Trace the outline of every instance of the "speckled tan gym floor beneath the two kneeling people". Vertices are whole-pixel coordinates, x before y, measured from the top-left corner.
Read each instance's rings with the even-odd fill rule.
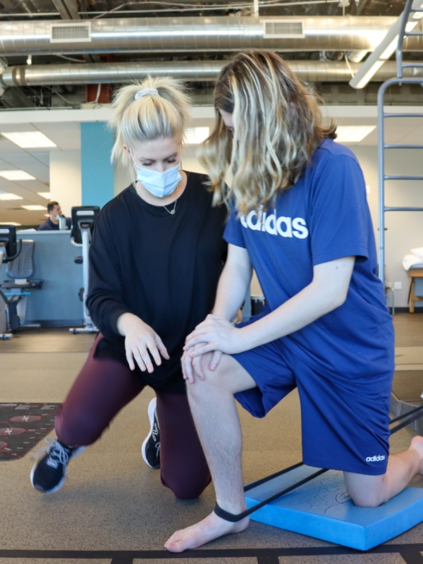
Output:
[[[423,315],[396,314],[401,369],[423,365]],[[0,403],[57,403],[85,361],[93,336],[67,329],[27,330],[0,341]],[[178,501],[149,469],[140,446],[149,431],[143,392],[109,431],[69,466],[66,484],[45,496],[32,489],[33,452],[0,462],[0,564],[414,564],[423,563],[423,524],[369,553],[357,553],[300,534],[252,522],[246,532],[182,555],[164,551],[178,528],[214,507],[213,486],[196,501]],[[291,393],[266,419],[240,410],[245,482],[301,460],[298,395]],[[393,436],[393,453],[405,450],[410,428]],[[423,477],[413,480],[423,487]]]

